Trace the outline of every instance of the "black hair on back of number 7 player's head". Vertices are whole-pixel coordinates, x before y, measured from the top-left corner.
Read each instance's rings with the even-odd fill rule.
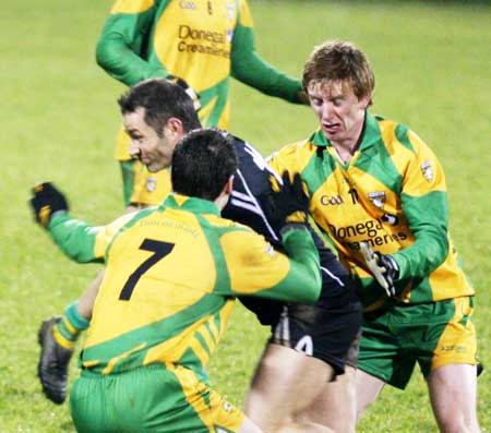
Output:
[[[214,201],[237,170],[233,139],[216,129],[184,135],[172,154],[170,178],[178,194]]]

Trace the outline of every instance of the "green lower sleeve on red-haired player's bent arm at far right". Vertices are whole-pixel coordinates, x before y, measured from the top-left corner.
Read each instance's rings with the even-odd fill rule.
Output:
[[[418,197],[403,193],[400,199],[416,242],[392,256],[399,266],[399,279],[424,278],[448,254],[446,193],[432,191]]]

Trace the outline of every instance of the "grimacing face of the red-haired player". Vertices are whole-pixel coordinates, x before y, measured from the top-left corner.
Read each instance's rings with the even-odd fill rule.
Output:
[[[354,145],[358,142],[370,95],[358,99],[352,86],[344,81],[311,83],[308,95],[322,131],[333,144]]]

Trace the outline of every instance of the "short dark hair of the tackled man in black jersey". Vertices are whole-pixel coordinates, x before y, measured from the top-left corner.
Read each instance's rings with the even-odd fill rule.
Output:
[[[121,113],[145,109],[145,122],[161,137],[163,129],[170,118],[182,122],[184,131],[200,128],[193,101],[188,94],[167,80],[151,79],[131,87],[118,99]]]

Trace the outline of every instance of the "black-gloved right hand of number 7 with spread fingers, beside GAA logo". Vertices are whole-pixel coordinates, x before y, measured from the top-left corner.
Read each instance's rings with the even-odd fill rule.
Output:
[[[272,176],[273,192],[265,206],[266,217],[273,227],[282,229],[289,224],[307,225],[309,214],[309,197],[303,191],[300,175],[296,173],[294,180],[287,171],[283,173],[283,183]]]

